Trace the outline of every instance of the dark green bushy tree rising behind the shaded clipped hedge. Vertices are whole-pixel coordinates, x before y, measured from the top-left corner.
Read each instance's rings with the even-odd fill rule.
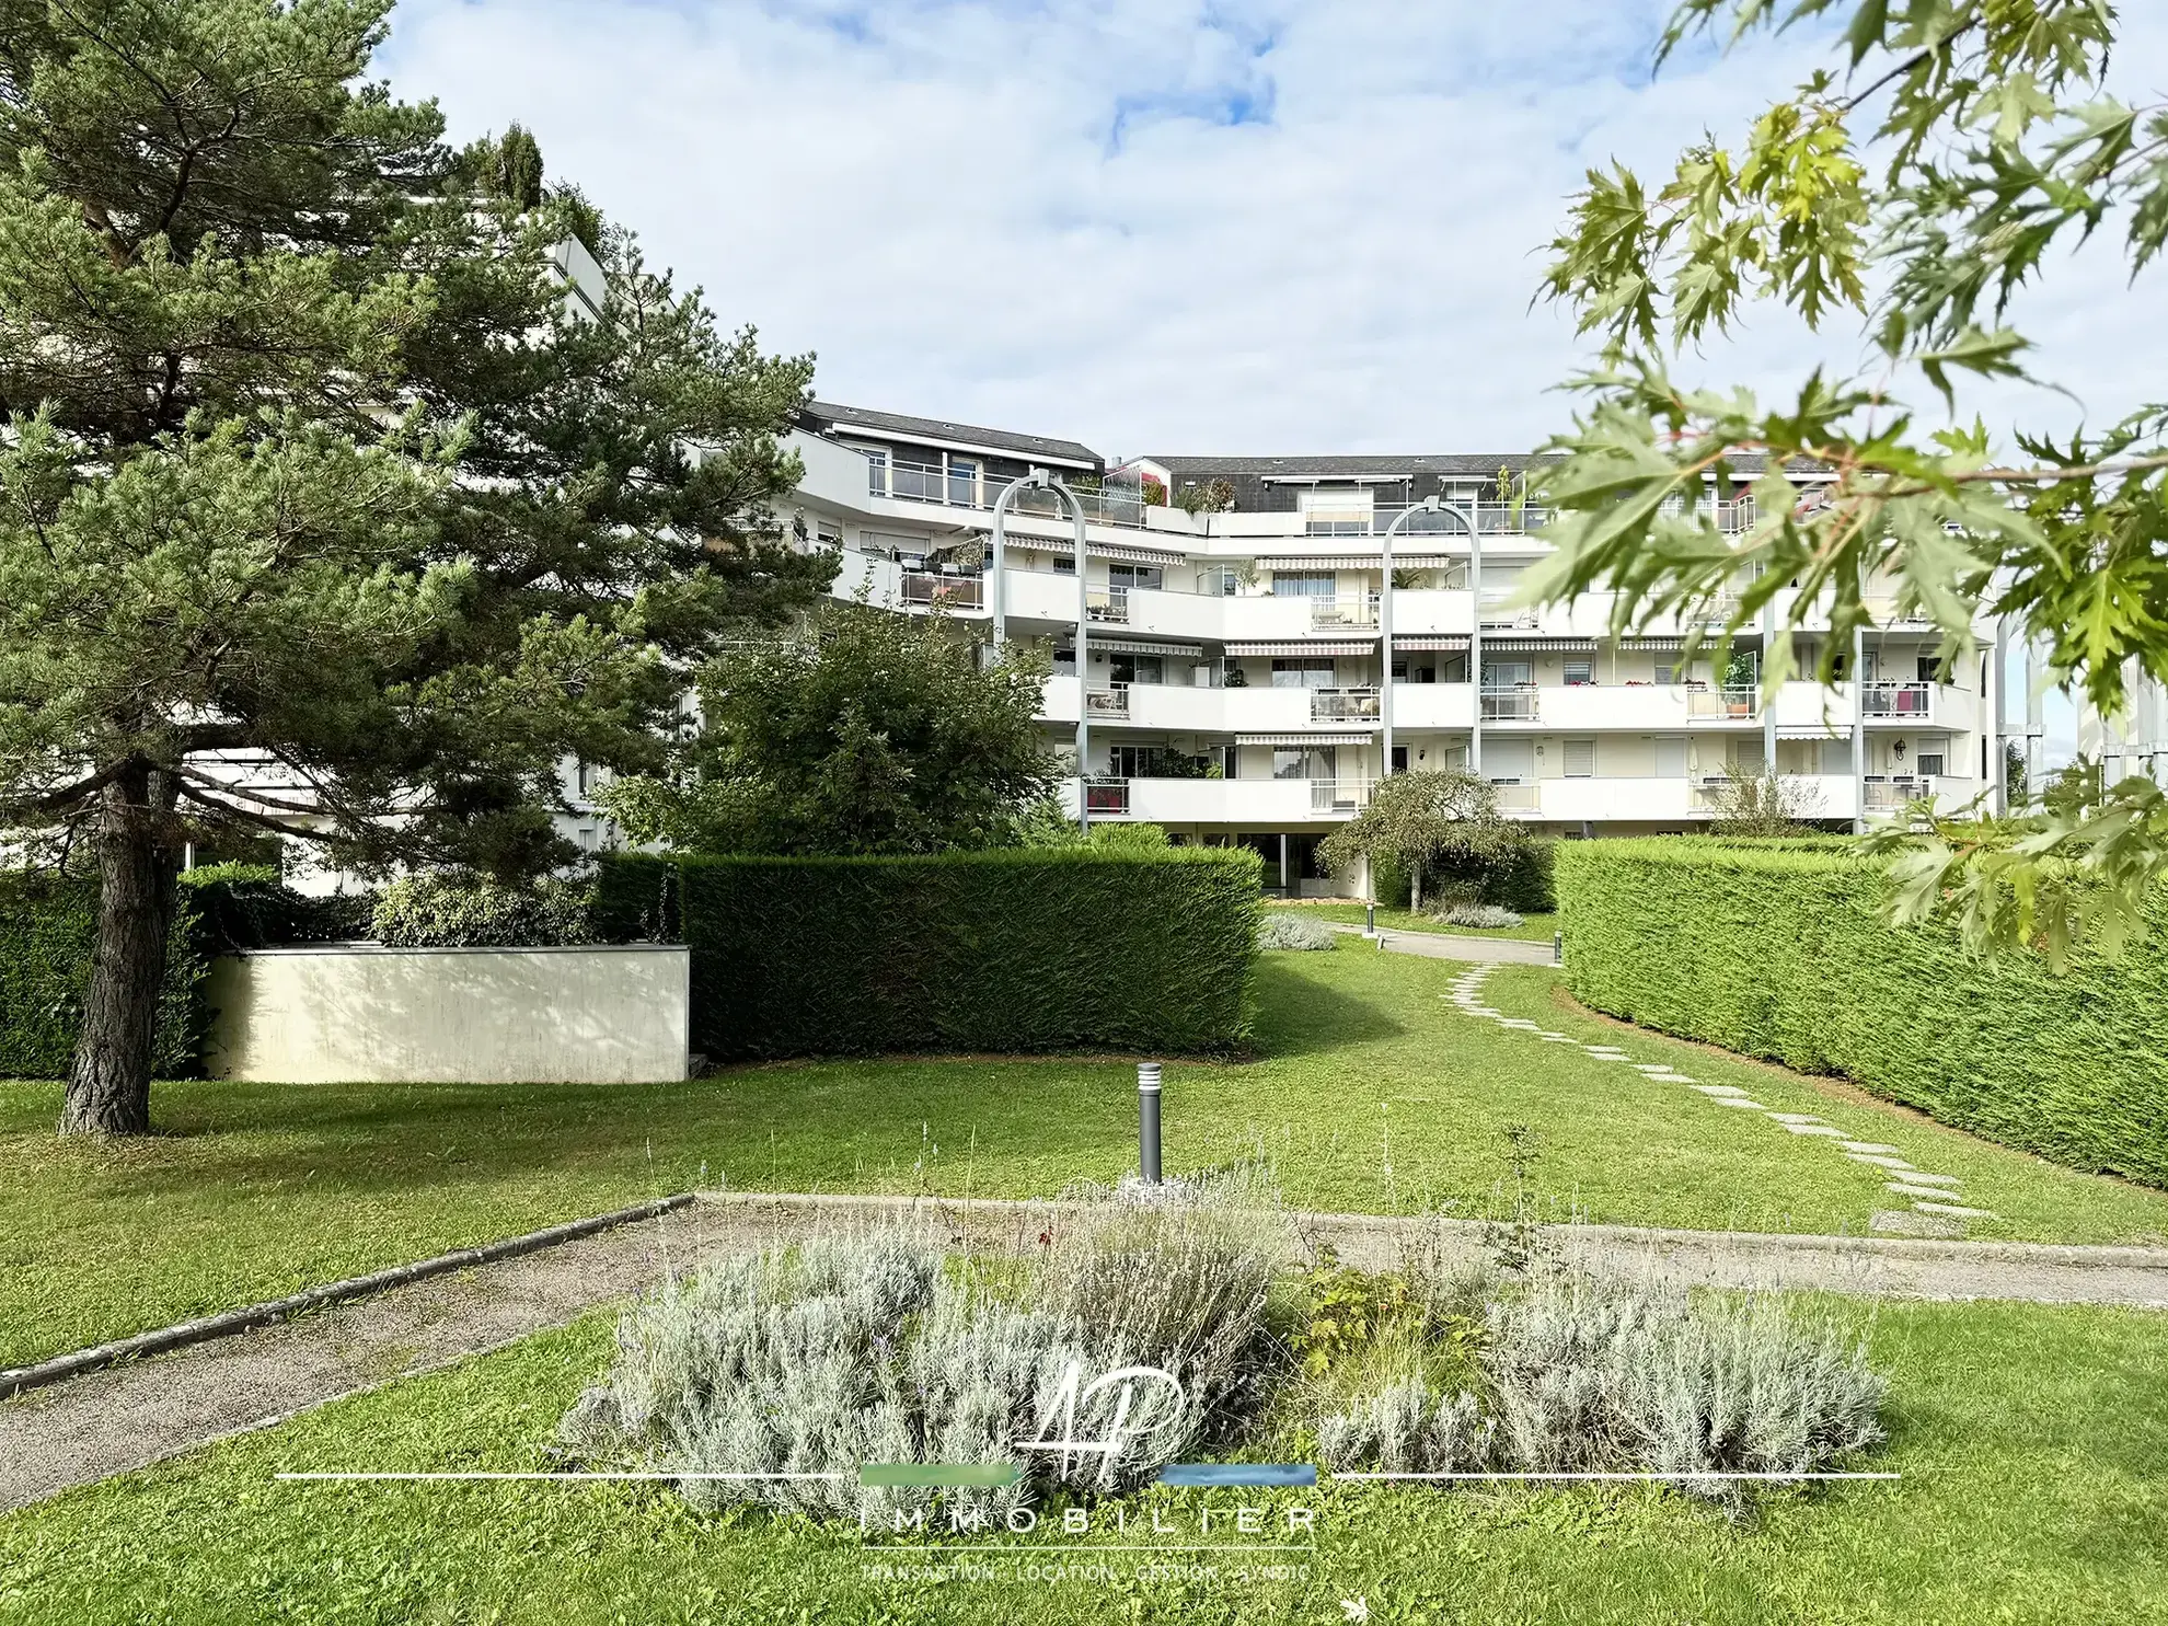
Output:
[[[941,614],[830,605],[700,674],[672,772],[603,798],[635,841],[700,852],[943,852],[1010,846],[1054,783],[1047,666],[980,661]]]

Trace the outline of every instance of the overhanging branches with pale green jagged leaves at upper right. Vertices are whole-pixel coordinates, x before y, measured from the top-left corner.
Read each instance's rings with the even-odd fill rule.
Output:
[[[1808,616],[1828,616],[1817,666],[1836,679],[1893,581],[1947,661],[1973,648],[1979,609],[2014,616],[2057,681],[2120,713],[2127,668],[2168,679],[2168,403],[2125,401],[2062,438],[2021,427],[2005,451],[1958,397],[2025,375],[2012,299],[2081,275],[2070,247],[2114,241],[2131,275],[2168,247],[2168,102],[2107,95],[2120,22],[2103,0],[1682,0],[1659,63],[1791,24],[1823,30],[1828,63],[1741,143],[1704,137],[1656,184],[1591,169],[1572,199],[1546,291],[1602,358],[1531,475],[1554,553],[1526,590],[1609,590],[1622,633],[1737,592],[1730,637],[1773,605],[1773,689]],[[1843,334],[1776,403],[1674,377],[1763,299],[1810,327],[1858,319],[1877,353],[1854,371]],[[1791,460],[1830,475],[1812,503]],[[1726,499],[1752,486],[1750,531],[1708,514],[1708,481]],[[2112,943],[2168,867],[2168,796],[2144,776],[2060,798],[2016,841],[1912,813],[1895,913],[1951,919],[1975,945],[2086,924]]]

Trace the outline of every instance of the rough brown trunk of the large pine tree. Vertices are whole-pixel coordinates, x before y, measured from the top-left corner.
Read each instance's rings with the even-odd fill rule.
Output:
[[[165,776],[106,785],[98,830],[98,950],[61,1134],[150,1134],[150,1067],[178,863]]]

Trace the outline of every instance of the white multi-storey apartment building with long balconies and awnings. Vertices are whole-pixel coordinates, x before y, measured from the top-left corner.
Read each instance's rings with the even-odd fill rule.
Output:
[[[1513,817],[1563,837],[1693,830],[1728,774],[1771,763],[1832,828],[2001,787],[1992,627],[1943,674],[1934,629],[1884,601],[1884,624],[1843,653],[1843,683],[1786,683],[1765,702],[1758,631],[1715,670],[1708,650],[1687,657],[1685,622],[1609,637],[1606,594],[1515,607],[1548,551],[1546,516],[1518,501],[1520,455],[1110,466],[1071,440],[824,401],[791,444],[806,473],[787,522],[841,549],[839,596],[939,603],[1051,655],[1041,718],[1077,770],[1071,806],[1255,846],[1286,891],[1329,887],[1316,843],[1385,772],[1479,772]],[[1034,468],[1077,496],[1082,583],[1051,490],[1012,496],[993,572],[995,501]],[[1234,507],[1184,512],[1214,481]],[[1795,483],[1808,496],[1815,475]],[[1750,499],[1704,503],[1752,525]],[[1819,655],[1815,624],[1802,666]]]

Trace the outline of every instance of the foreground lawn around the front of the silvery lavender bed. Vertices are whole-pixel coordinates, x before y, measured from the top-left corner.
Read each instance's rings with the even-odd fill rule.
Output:
[[[1771,1494],[1739,1522],[1654,1489],[1151,1492],[1197,1539],[1238,1505],[1318,1518],[1307,1576],[1242,1554],[1082,1550],[1104,1580],[898,1583],[852,1526],[687,1513],[659,1487],[295,1485],[284,1470],[525,1470],[609,1359],[592,1316],[186,1459],[0,1518],[24,1622],[1700,1622],[2168,1619],[2168,1316],[1851,1303],[1893,1379],[1897,1483]],[[1140,1520],[1140,1511],[1132,1511]],[[997,1537],[1047,1541],[1047,1535]],[[1257,1537],[1249,1537],[1257,1539]],[[1136,1544],[1136,1535],[1127,1537]],[[1062,1559],[1080,1557],[1060,1546]],[[997,1554],[969,1554],[986,1561]],[[1149,1578],[1140,1563],[1216,1565]],[[1008,1563],[1021,1563],[1010,1559]],[[1010,1572],[1012,1574],[1012,1572]]]

